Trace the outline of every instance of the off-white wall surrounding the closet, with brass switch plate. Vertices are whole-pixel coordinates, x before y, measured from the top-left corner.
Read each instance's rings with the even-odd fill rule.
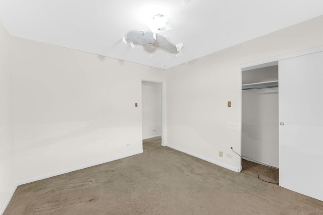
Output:
[[[238,65],[321,46],[322,24],[320,16],[168,69],[168,146],[238,171]]]

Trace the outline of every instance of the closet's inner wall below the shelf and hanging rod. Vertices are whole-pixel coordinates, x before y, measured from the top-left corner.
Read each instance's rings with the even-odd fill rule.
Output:
[[[242,156],[279,167],[278,89],[242,91]]]

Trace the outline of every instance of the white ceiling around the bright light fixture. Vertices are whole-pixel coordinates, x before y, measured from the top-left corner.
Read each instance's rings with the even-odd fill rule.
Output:
[[[122,42],[156,14],[173,27],[159,34],[184,43],[180,56]],[[164,69],[320,15],[322,0],[0,0],[12,36]]]

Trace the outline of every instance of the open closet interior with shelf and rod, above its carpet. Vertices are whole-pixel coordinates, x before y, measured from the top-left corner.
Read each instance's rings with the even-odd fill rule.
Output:
[[[278,62],[242,71],[241,155],[279,167]]]

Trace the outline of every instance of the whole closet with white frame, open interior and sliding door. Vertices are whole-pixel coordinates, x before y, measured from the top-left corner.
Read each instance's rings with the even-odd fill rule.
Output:
[[[239,66],[242,74],[239,152],[279,167],[279,186],[320,201],[323,201],[322,71],[323,46]],[[240,167],[241,164],[238,160]]]

